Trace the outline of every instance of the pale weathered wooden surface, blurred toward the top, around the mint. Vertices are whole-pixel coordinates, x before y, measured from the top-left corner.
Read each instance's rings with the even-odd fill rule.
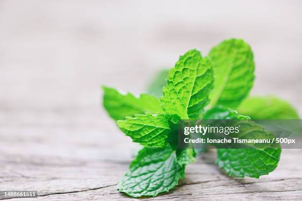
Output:
[[[0,0],[0,190],[130,200],[116,184],[139,147],[101,108],[100,85],[139,94],[178,55],[205,55],[225,38],[252,46],[252,94],[277,95],[302,114],[301,8],[299,0]],[[175,190],[143,200],[302,200],[302,150],[283,150],[260,179],[229,178],[215,157],[198,156]]]

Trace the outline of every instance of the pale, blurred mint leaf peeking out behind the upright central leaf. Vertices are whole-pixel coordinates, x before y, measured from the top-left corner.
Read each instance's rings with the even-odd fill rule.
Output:
[[[147,88],[147,94],[153,95],[155,97],[161,97],[162,96],[162,88],[166,86],[167,81],[166,78],[169,74],[168,69],[162,69],[155,77],[151,80],[151,82],[148,85]]]

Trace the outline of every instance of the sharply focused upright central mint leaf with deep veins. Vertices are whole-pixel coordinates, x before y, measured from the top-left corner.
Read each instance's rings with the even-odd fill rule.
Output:
[[[202,58],[199,51],[189,50],[170,70],[160,101],[167,114],[194,119],[208,103],[212,88],[211,61],[208,57]]]

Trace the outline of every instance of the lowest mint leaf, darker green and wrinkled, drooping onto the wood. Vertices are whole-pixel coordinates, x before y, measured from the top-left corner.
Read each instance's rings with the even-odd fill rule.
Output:
[[[127,195],[155,197],[173,189],[185,175],[185,166],[179,165],[175,151],[170,146],[143,148],[130,169],[118,184]]]

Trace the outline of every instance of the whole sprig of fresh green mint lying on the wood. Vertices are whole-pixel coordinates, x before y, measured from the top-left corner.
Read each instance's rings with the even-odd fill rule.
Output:
[[[149,92],[159,97],[162,89],[160,99],[150,95],[136,98],[103,87],[109,115],[118,120],[122,132],[145,146],[118,185],[119,191],[131,197],[168,192],[184,177],[185,167],[195,161],[194,149],[177,148],[179,119],[244,119],[247,138],[271,139],[275,136],[253,119],[299,118],[283,100],[245,99],[253,86],[254,60],[250,46],[241,39],[223,41],[209,57],[189,50],[169,73],[162,71],[155,80]],[[212,108],[204,112],[208,103]],[[216,164],[228,175],[259,178],[277,167],[281,148],[274,143],[253,149],[218,149],[217,153]]]

